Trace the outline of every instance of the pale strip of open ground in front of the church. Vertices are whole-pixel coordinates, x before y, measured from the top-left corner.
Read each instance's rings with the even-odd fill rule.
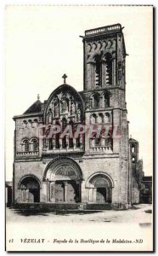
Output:
[[[34,223],[134,223],[150,225],[152,223],[152,206],[149,204],[139,204],[132,209],[124,211],[101,210],[86,212],[41,212],[37,215],[30,214],[25,216],[24,213],[17,212],[14,209],[6,209],[7,222],[34,222]]]

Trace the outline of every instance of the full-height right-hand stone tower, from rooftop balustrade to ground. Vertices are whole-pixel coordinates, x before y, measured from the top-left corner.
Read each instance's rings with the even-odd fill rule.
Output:
[[[127,54],[122,29],[121,24],[115,24],[85,32],[82,96],[85,123],[93,131],[85,136],[84,157],[93,161],[95,172],[106,172],[114,179],[113,203],[119,201],[126,205],[131,196],[131,169],[126,104]]]

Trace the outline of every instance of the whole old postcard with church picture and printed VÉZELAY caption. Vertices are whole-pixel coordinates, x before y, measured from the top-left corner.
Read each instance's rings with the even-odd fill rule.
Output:
[[[8,252],[153,252],[153,6],[6,5]]]

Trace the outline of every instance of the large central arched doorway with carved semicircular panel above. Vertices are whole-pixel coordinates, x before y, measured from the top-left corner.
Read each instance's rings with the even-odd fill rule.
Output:
[[[54,203],[76,203],[81,201],[82,171],[74,160],[60,158],[46,169],[48,201]]]

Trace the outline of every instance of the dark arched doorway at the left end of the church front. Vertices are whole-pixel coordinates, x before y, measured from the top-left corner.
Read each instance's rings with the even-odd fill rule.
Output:
[[[36,177],[23,177],[19,185],[21,202],[34,203],[40,201],[40,184]]]

